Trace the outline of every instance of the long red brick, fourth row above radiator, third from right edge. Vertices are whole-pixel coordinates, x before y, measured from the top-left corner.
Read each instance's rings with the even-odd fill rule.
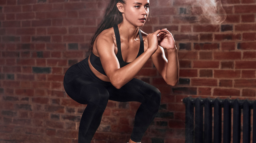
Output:
[[[193,61],[193,68],[219,68],[218,61]]]

